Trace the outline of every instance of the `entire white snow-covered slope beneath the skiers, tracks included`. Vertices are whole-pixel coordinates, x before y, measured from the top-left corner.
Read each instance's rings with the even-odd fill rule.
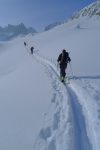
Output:
[[[63,48],[71,57],[66,85],[57,68]],[[99,149],[100,17],[1,42],[0,150]]]

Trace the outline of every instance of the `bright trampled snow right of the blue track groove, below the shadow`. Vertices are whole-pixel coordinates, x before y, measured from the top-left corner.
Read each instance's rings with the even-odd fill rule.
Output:
[[[93,150],[100,149],[100,88],[92,83],[92,80],[81,79],[78,83],[73,82],[71,89],[78,95],[84,115],[89,138]],[[80,85],[81,84],[81,85]]]

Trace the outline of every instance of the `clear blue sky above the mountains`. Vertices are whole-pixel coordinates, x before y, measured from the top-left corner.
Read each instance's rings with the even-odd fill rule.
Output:
[[[42,31],[96,0],[0,0],[0,26],[24,23]]]

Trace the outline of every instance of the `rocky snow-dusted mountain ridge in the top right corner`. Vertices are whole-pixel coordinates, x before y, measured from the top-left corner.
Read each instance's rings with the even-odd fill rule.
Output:
[[[74,13],[71,19],[78,19],[80,17],[93,17],[93,16],[100,16],[100,1],[96,1],[82,10]]]

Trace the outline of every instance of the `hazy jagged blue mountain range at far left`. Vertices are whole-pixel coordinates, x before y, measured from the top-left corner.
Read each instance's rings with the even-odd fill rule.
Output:
[[[0,41],[10,40],[16,36],[23,36],[29,33],[36,33],[36,30],[32,27],[26,28],[23,23],[19,25],[10,25],[6,27],[0,27]]]

